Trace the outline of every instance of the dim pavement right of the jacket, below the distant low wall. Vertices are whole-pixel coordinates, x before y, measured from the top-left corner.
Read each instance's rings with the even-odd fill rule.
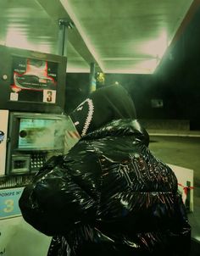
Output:
[[[192,225],[192,238],[200,242],[200,132],[195,136],[164,136],[151,133],[149,148],[158,159],[194,171],[194,210],[188,213]]]

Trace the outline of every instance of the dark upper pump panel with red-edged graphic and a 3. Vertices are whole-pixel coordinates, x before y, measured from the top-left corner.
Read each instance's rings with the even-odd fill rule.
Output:
[[[56,103],[58,63],[14,56],[11,77],[11,101]]]

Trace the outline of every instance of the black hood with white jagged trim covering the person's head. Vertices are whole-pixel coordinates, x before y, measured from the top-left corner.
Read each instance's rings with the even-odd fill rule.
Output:
[[[135,105],[123,86],[105,86],[92,92],[71,114],[80,136],[113,120],[136,119]]]

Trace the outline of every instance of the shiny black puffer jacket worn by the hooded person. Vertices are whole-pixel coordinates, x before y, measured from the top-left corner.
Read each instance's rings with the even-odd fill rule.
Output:
[[[19,207],[53,236],[49,256],[188,255],[175,174],[147,144],[136,120],[115,120],[40,170]]]

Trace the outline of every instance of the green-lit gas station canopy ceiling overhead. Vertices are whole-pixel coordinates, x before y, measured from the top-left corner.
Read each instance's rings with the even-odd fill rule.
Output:
[[[58,54],[66,28],[67,72],[152,74],[198,0],[0,0],[0,44]]]

